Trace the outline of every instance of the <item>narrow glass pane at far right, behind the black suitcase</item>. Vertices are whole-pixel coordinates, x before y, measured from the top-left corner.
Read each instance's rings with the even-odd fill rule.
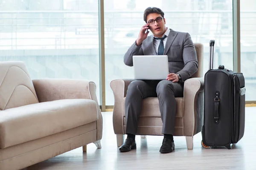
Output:
[[[256,1],[243,0],[240,5],[241,72],[244,74],[245,100],[256,101]]]

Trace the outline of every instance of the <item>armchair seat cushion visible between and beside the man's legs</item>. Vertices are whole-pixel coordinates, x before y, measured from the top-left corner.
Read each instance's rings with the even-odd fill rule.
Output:
[[[183,117],[184,102],[183,97],[175,97],[176,117]],[[170,103],[172,105],[172,103]],[[123,99],[123,116],[125,116],[125,97]],[[161,117],[159,101],[157,97],[148,97],[142,100],[142,109],[140,117]]]

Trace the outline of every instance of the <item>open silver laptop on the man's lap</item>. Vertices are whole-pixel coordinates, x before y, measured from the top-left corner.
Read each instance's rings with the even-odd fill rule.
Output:
[[[167,55],[133,56],[134,79],[162,80],[169,74]]]

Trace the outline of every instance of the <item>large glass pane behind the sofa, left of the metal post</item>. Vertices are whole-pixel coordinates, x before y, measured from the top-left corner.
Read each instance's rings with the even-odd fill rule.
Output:
[[[0,61],[24,61],[32,79],[86,79],[99,100],[98,2],[0,1]]]

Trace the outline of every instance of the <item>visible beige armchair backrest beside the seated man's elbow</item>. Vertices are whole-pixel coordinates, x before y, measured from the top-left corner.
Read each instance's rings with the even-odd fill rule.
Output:
[[[204,64],[204,45],[198,42],[194,43],[196,56],[198,59],[198,71],[192,75],[192,77],[204,77],[203,64]]]

